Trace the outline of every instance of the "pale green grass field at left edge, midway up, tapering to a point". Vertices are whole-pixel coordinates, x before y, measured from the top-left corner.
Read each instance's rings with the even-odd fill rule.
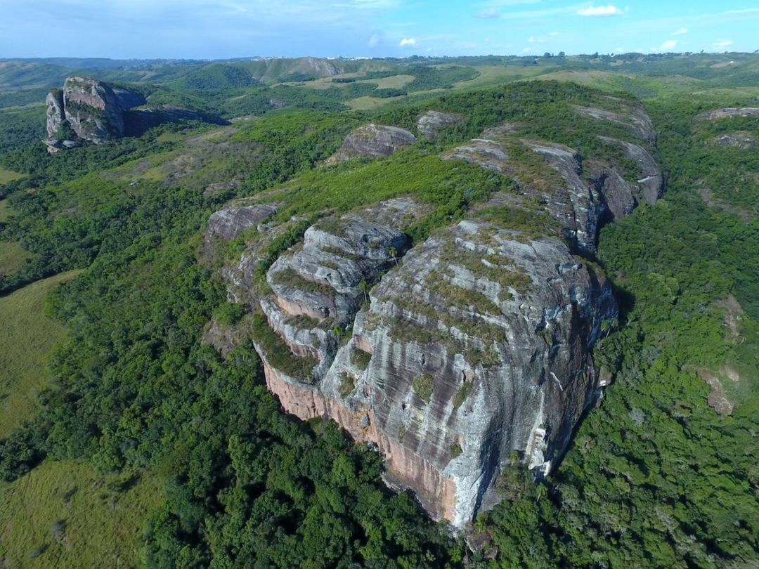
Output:
[[[66,336],[64,325],[43,313],[44,300],[77,274],[61,273],[0,298],[0,438],[36,410],[36,393],[48,381],[47,357]]]

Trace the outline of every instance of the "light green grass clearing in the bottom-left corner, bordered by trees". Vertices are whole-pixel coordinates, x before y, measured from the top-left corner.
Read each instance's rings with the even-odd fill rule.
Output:
[[[142,531],[162,501],[150,473],[96,473],[47,461],[0,484],[0,567],[137,567]]]

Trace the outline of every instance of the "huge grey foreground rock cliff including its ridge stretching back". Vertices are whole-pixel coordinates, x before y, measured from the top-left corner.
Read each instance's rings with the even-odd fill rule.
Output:
[[[497,503],[512,461],[549,473],[609,382],[592,356],[617,317],[587,261],[598,228],[663,192],[647,115],[635,112],[636,124],[625,119],[635,142],[603,139],[612,158],[581,159],[513,124],[444,152],[518,189],[422,243],[405,230],[430,209],[408,197],[316,222],[265,283],[254,275],[260,246],[249,247],[226,273],[230,297],[256,313],[254,344],[285,410],[330,417],[374,445],[389,485],[455,527]]]

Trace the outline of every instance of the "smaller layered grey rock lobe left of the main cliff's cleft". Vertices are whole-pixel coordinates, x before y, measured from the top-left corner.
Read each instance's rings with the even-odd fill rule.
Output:
[[[347,335],[371,283],[395,265],[411,240],[398,225],[424,211],[411,200],[390,200],[364,215],[344,215],[308,228],[299,250],[269,268],[271,297],[260,299],[269,325],[293,354],[318,361],[306,379],[320,382]],[[367,219],[373,221],[367,221]]]

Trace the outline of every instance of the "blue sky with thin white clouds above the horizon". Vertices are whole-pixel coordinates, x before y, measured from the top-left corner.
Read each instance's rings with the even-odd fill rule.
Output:
[[[756,0],[0,0],[0,58],[759,49]]]

